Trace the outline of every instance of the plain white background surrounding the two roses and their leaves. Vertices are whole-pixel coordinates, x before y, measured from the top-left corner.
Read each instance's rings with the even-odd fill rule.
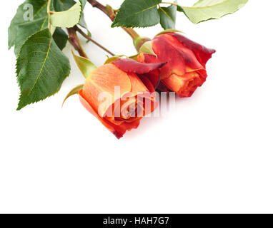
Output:
[[[223,19],[177,29],[215,48],[209,78],[165,118],[146,118],[116,140],[74,96],[84,78],[71,59],[61,91],[16,111],[7,28],[23,1],[1,11],[0,212],[273,212],[272,0],[249,1]],[[102,1],[118,8],[121,1]],[[191,5],[194,1],[185,1]],[[116,54],[135,54],[131,38],[87,5],[93,38]],[[137,29],[154,36],[160,26]],[[98,66],[104,51],[88,43]]]

